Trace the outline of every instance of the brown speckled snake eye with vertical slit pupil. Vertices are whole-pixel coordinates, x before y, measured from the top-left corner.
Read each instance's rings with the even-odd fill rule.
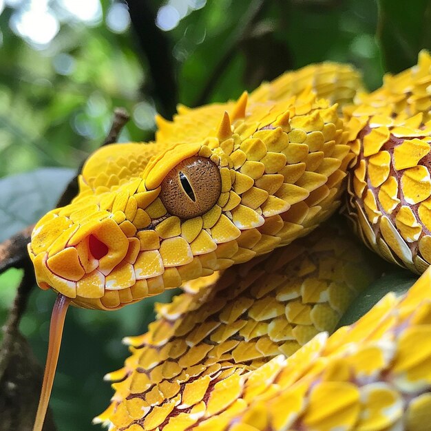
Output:
[[[178,163],[162,181],[160,199],[179,218],[198,217],[220,198],[220,170],[206,157],[193,156]]]

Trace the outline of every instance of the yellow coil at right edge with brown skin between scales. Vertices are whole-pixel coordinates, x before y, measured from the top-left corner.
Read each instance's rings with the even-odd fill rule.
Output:
[[[431,263],[431,56],[359,94],[350,116],[358,155],[349,213],[370,249],[415,273]]]

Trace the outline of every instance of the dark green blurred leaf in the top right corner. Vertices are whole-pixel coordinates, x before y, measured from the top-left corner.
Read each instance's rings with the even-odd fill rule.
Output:
[[[414,65],[423,48],[431,50],[431,1],[379,0],[377,37],[388,72]]]

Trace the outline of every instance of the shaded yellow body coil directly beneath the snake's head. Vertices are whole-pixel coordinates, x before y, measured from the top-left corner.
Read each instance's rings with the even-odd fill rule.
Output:
[[[251,379],[258,379],[273,357],[289,357],[318,333],[333,331],[379,275],[371,262],[344,231],[326,225],[215,282],[189,282],[187,293],[158,305],[149,333],[126,339],[132,356],[107,375],[118,381],[116,394],[96,421],[113,423],[113,430],[181,431],[229,408],[240,376],[255,372]]]

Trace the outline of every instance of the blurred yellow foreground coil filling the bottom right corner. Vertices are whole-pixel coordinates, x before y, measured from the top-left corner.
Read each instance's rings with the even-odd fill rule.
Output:
[[[319,333],[287,359],[279,355],[249,372],[224,370],[223,380],[193,380],[151,410],[123,391],[99,419],[118,423],[111,431],[427,431],[430,297],[428,269],[405,298],[386,295],[357,323],[329,338]],[[139,348],[132,351],[135,359]],[[127,361],[129,369],[136,366]]]

